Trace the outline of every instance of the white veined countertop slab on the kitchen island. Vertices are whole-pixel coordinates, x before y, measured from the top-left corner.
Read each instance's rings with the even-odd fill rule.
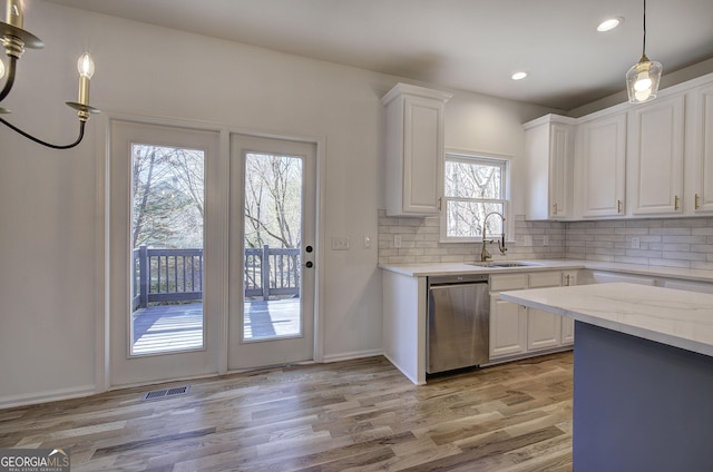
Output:
[[[713,295],[615,283],[500,293],[500,298],[713,356]]]

